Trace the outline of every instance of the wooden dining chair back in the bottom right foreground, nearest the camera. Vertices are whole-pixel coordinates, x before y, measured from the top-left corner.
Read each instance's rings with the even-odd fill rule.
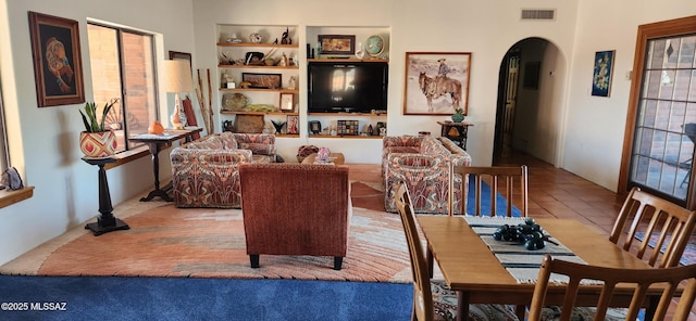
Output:
[[[559,285],[555,281],[549,281],[551,273],[555,273],[555,275],[567,275],[569,278],[568,283],[566,285]],[[691,308],[696,299],[696,265],[664,269],[618,269],[554,259],[547,254],[544,257],[544,261],[534,286],[534,295],[532,296],[532,304],[530,306],[529,320],[542,320],[546,293],[550,287],[558,286],[566,286],[561,316],[558,320],[575,320],[571,318],[571,314],[573,313],[575,301],[579,296],[577,288],[583,280],[595,283],[593,285],[601,288],[600,295],[596,301],[596,309],[594,309],[594,317],[589,317],[594,318],[594,320],[605,320],[606,312],[612,300],[612,293],[619,283],[635,284],[636,286],[631,305],[625,309],[626,317],[623,320],[636,320],[638,311],[646,301],[648,287],[656,283],[661,283],[666,287],[660,296],[655,318],[652,320],[664,320],[670,303],[672,301],[680,282],[682,281],[686,281],[686,285],[683,288],[683,293],[679,299],[676,309],[673,311],[674,313],[671,320],[687,320]],[[596,281],[601,281],[601,283]]]

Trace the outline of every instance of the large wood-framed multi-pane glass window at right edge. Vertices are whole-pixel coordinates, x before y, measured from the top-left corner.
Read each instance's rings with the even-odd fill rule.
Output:
[[[694,208],[696,17],[638,27],[620,188]]]

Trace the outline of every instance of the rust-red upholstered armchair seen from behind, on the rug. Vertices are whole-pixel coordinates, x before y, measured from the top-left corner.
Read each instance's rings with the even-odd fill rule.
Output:
[[[348,167],[296,163],[239,165],[251,267],[259,256],[333,256],[340,270],[351,205]]]

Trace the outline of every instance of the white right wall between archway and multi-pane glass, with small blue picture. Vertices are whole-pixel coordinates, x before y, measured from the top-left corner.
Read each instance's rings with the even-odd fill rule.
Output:
[[[633,68],[637,28],[694,14],[692,0],[580,1],[560,167],[617,191],[631,90],[625,77]],[[605,50],[616,50],[611,93],[593,97],[595,52]]]

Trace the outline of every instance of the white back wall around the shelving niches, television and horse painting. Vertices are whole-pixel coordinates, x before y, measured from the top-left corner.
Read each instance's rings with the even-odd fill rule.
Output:
[[[475,126],[469,129],[468,151],[474,164],[486,165],[492,162],[498,69],[505,53],[527,37],[546,38],[572,52],[576,2],[536,0],[522,5],[515,1],[435,0],[425,4],[415,0],[356,0],[349,5],[324,1],[297,1],[287,5],[285,1],[275,0],[196,0],[197,63],[200,68],[215,70],[215,24],[299,25],[300,52],[303,52],[303,43],[316,41],[304,38],[308,26],[388,26],[391,28],[388,134],[418,134],[425,130],[439,136],[436,121],[448,119],[448,116],[402,115],[406,52],[471,52],[467,119]],[[556,22],[520,22],[521,8],[549,7],[558,9]],[[301,68],[301,112],[307,107],[304,75],[306,69]],[[214,97],[213,102],[219,104],[220,97]],[[307,117],[301,115],[300,119],[307,120]],[[341,151],[347,162],[381,162],[380,140],[316,140],[303,136],[281,139],[278,147],[286,159],[294,159],[297,149],[308,143]]]

